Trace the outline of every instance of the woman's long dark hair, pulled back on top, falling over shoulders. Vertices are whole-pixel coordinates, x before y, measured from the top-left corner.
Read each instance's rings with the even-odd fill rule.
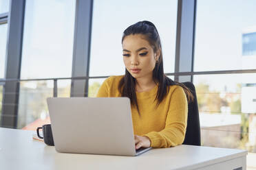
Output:
[[[162,46],[160,41],[160,36],[158,34],[158,30],[153,23],[149,21],[140,21],[131,25],[125,29],[125,32],[122,34],[122,41],[125,39],[126,36],[131,34],[142,34],[148,40],[149,45],[153,48],[154,53],[160,49],[160,57],[158,58],[158,62],[156,62],[156,66],[153,69],[153,81],[158,83],[158,93],[156,95],[157,105],[156,108],[159,106],[161,101],[164,97],[167,96],[169,93],[169,86],[178,85],[181,86],[186,94],[188,101],[193,100],[193,95],[189,88],[186,88],[184,84],[179,82],[174,82],[169,77],[164,75],[164,66],[162,62]],[[125,69],[125,76],[122,77],[118,84],[118,90],[121,93],[122,97],[129,97],[131,100],[131,104],[135,105],[138,109],[138,102],[136,97],[136,79],[132,77],[132,75]],[[140,113],[140,112],[139,112]]]

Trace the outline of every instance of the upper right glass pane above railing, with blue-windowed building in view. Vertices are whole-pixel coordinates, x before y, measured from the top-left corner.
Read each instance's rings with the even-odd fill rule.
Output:
[[[254,0],[198,0],[195,71],[255,69],[255,6]]]

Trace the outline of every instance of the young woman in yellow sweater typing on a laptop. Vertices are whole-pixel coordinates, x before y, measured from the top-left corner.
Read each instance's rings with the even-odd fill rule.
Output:
[[[149,21],[125,29],[125,75],[103,82],[97,97],[129,97],[136,149],[171,147],[184,141],[191,92],[164,75],[158,30]]]

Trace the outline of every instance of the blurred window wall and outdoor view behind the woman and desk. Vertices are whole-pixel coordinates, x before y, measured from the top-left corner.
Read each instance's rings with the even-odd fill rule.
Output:
[[[122,32],[151,21],[164,73],[193,82],[202,145],[247,149],[256,169],[256,1],[0,0],[0,126],[50,123],[47,97],[95,97],[123,75]]]

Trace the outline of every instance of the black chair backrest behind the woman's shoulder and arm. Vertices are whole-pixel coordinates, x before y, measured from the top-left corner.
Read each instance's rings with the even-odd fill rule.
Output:
[[[191,90],[194,100],[189,103],[188,121],[186,126],[185,145],[201,145],[200,119],[198,111],[198,99],[195,93],[195,86],[191,82],[183,82],[187,88]]]

